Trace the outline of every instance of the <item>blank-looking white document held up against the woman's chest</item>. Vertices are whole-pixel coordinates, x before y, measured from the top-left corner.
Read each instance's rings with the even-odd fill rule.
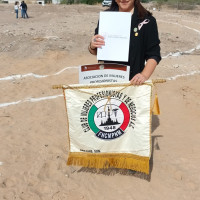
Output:
[[[130,12],[100,12],[99,35],[105,46],[97,49],[97,60],[128,61],[131,28]]]

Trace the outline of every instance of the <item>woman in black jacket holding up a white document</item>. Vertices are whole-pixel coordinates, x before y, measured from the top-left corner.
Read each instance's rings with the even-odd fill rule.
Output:
[[[112,0],[108,11],[131,12],[131,31],[128,62],[115,62],[130,66],[130,82],[135,85],[144,83],[152,75],[161,60],[160,40],[155,18],[139,0]],[[91,54],[106,45],[103,36],[98,34],[98,26],[88,47]],[[146,61],[146,63],[145,63]],[[112,62],[112,61],[110,61]]]

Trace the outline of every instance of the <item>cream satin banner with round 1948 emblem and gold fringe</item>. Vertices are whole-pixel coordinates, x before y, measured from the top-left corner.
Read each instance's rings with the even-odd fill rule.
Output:
[[[152,83],[63,86],[68,165],[149,174]]]

